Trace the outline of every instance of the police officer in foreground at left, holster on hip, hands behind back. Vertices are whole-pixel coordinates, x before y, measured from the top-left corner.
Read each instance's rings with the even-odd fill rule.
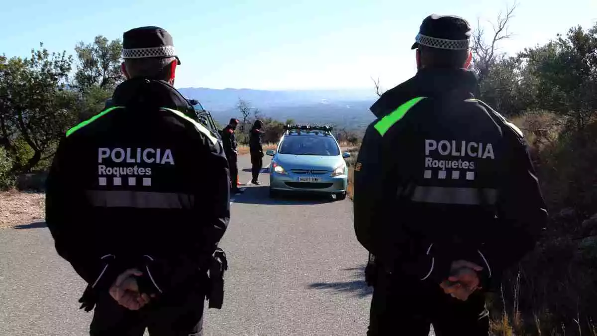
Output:
[[[127,80],[112,108],[66,132],[47,179],[46,221],[88,286],[91,335],[200,335],[207,270],[230,217],[217,139],[183,114],[171,35],[123,35]],[[208,176],[208,178],[205,178]]]

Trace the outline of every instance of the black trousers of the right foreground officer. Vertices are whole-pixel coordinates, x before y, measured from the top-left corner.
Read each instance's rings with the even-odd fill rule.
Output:
[[[432,324],[436,336],[487,336],[485,295],[475,292],[460,301],[445,294],[439,284],[378,273],[368,336],[428,336]]]

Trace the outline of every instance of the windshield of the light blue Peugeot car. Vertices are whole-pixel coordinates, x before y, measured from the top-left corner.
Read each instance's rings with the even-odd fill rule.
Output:
[[[340,155],[340,148],[331,136],[287,136],[279,153],[335,156]]]

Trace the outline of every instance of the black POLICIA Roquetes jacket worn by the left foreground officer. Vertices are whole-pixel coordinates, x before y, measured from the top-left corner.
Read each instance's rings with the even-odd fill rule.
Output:
[[[60,256],[95,290],[139,267],[168,294],[210,267],[230,217],[223,148],[163,81],[128,80],[112,108],[70,129],[47,178]],[[205,178],[205,177],[208,178]]]

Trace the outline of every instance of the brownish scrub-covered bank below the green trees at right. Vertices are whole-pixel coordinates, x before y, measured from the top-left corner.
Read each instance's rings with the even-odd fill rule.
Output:
[[[558,123],[545,115],[530,114],[521,124],[537,120],[543,132],[533,133],[528,127],[525,132],[531,132],[527,138],[549,222],[537,248],[505,274],[503,292],[492,300],[492,317],[503,321],[505,311],[516,335],[594,335],[597,121],[581,131],[559,128],[554,137]]]

